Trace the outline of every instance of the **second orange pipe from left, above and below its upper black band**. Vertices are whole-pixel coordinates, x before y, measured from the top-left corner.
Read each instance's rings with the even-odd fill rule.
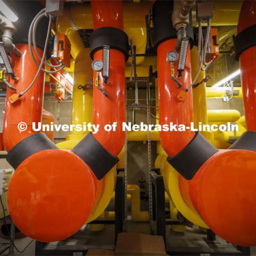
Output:
[[[92,1],[94,29],[100,27],[115,27],[123,29],[122,1]],[[102,50],[94,54],[94,60],[102,61]],[[103,83],[100,73],[99,83],[109,97],[105,97],[95,86],[97,73],[94,71],[93,86],[93,123],[99,124],[99,132],[93,134],[110,154],[117,156],[124,146],[125,132],[122,123],[125,122],[125,58],[118,50],[110,49],[108,85]],[[117,122],[115,131],[106,131],[106,124]]]

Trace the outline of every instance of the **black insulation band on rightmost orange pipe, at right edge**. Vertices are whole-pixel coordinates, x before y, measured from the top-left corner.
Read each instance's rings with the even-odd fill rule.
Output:
[[[234,40],[235,59],[239,61],[239,56],[247,49],[256,45],[256,24],[241,31]]]

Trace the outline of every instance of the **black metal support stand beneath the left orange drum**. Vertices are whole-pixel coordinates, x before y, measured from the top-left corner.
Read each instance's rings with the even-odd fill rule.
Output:
[[[120,170],[120,169],[119,169]],[[115,188],[115,220],[99,219],[90,222],[90,224],[105,224],[105,225],[115,225],[115,245],[117,241],[117,236],[119,233],[124,231],[124,172],[119,171],[116,178],[116,188]],[[100,238],[100,236],[99,236]],[[43,243],[36,241],[35,255],[86,255],[88,249],[75,249],[70,245],[65,249],[50,250],[46,249],[48,243]],[[85,245],[86,247],[86,245]],[[92,247],[92,245],[90,245]],[[97,248],[99,246],[95,246]],[[63,246],[62,246],[63,248]]]

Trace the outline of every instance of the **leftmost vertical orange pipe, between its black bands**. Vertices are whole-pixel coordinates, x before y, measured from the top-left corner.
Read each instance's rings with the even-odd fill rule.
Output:
[[[17,48],[22,52],[20,58],[12,54],[12,65],[15,71],[15,76],[19,78],[18,82],[10,79],[10,84],[17,88],[17,93],[24,91],[29,83],[33,80],[36,74],[36,66],[29,55],[27,44],[17,44]],[[43,54],[38,48],[39,54]],[[39,62],[39,60],[37,60]],[[11,103],[9,98],[13,91],[7,88],[5,115],[3,126],[3,143],[6,151],[10,151],[13,146],[21,140],[34,134],[32,130],[33,122],[41,122],[42,106],[44,93],[44,73],[41,72],[31,89],[21,97],[17,102]],[[18,124],[25,122],[27,124],[26,131],[19,131]]]

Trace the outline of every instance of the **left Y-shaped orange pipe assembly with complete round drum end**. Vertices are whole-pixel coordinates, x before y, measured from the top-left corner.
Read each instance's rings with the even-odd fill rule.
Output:
[[[28,8],[30,2],[22,2],[22,8],[26,9],[26,4]],[[36,4],[34,15],[41,6]],[[95,31],[109,26],[108,29],[123,33],[122,1],[95,1],[92,11]],[[19,29],[24,33],[28,30],[27,22],[23,26]],[[127,38],[124,33],[122,35]],[[105,36],[101,34],[101,49]],[[72,151],[59,150],[44,133],[35,133],[31,128],[33,122],[41,122],[42,118],[43,73],[17,102],[10,102],[12,91],[7,89],[3,140],[8,151],[7,161],[16,169],[9,184],[9,211],[22,233],[38,241],[59,241],[84,225],[97,202],[97,195],[102,193],[98,185],[118,162],[117,155],[124,145],[122,122],[125,121],[125,49],[128,42],[124,41],[123,49],[113,49],[111,40],[108,42],[110,75],[105,87],[108,98],[97,89],[94,81],[93,122],[100,124],[101,129],[95,136],[87,134]],[[15,83],[19,93],[33,79],[37,67],[26,43],[17,44],[17,48],[22,57],[13,55],[12,59],[15,75],[20,79],[10,83]],[[101,49],[93,49],[94,58],[102,60]],[[39,47],[38,52],[42,55]],[[101,75],[100,83],[103,84]],[[20,122],[27,124],[26,131],[18,130]],[[118,123],[115,132],[103,130],[105,124],[113,122]]]

